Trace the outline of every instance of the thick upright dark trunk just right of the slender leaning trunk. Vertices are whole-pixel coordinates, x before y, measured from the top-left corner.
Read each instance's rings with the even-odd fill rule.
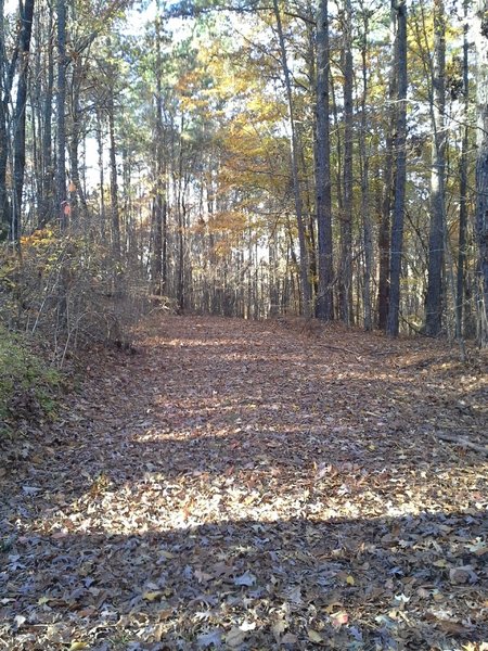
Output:
[[[331,201],[331,145],[329,133],[329,14],[328,0],[320,0],[317,16],[317,132],[316,201],[319,244],[319,293],[317,316],[334,318],[333,245]]]

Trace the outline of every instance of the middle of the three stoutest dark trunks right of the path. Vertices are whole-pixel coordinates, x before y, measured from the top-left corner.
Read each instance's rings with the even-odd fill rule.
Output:
[[[393,0],[397,13],[396,68],[398,78],[397,120],[395,138],[396,178],[395,205],[391,225],[391,247],[389,263],[389,307],[386,333],[397,336],[400,324],[400,278],[403,251],[404,195],[407,184],[407,3]]]

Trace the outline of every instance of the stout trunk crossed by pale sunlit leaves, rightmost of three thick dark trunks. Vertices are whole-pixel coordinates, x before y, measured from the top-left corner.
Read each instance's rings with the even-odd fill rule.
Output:
[[[434,2],[434,65],[431,115],[433,126],[431,175],[431,232],[425,333],[436,336],[442,328],[442,267],[446,229],[446,14],[444,0]]]

